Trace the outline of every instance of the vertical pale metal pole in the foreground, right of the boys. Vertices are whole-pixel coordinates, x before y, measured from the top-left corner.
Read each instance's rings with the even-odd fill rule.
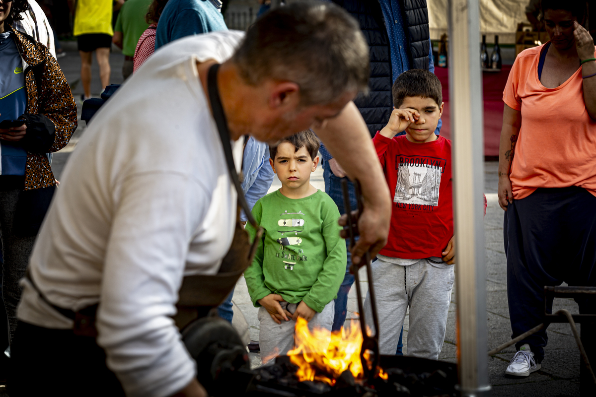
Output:
[[[462,396],[484,395],[486,269],[484,146],[478,0],[449,0],[449,98],[454,164],[457,346]]]

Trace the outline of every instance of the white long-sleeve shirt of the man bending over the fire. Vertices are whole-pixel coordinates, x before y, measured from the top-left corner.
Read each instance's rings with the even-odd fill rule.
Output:
[[[33,249],[32,278],[52,304],[100,302],[97,341],[129,396],[169,396],[195,376],[170,316],[184,275],[218,271],[237,198],[196,62],[227,60],[242,37],[172,42],[120,87],[70,157]],[[23,286],[20,320],[72,328]]]

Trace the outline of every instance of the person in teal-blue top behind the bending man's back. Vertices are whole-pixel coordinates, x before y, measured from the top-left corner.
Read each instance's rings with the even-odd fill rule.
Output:
[[[220,10],[219,0],[170,0],[159,17],[155,51],[182,37],[228,30]]]

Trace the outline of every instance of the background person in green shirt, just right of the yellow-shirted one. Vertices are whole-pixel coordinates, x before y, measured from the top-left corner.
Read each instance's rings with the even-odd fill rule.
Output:
[[[145,15],[147,15],[152,1],[127,0],[120,8],[112,42],[122,48],[122,54],[125,55],[124,65],[122,66],[122,76],[125,80],[132,74],[132,59],[135,55],[136,43],[149,26],[145,20]]]

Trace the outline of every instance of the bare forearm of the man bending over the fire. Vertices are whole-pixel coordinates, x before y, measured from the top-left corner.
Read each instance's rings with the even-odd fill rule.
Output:
[[[329,120],[324,128],[316,129],[315,133],[347,176],[358,179],[365,200],[383,203],[389,208],[389,188],[367,125],[356,105],[353,102],[347,104],[342,114]]]

